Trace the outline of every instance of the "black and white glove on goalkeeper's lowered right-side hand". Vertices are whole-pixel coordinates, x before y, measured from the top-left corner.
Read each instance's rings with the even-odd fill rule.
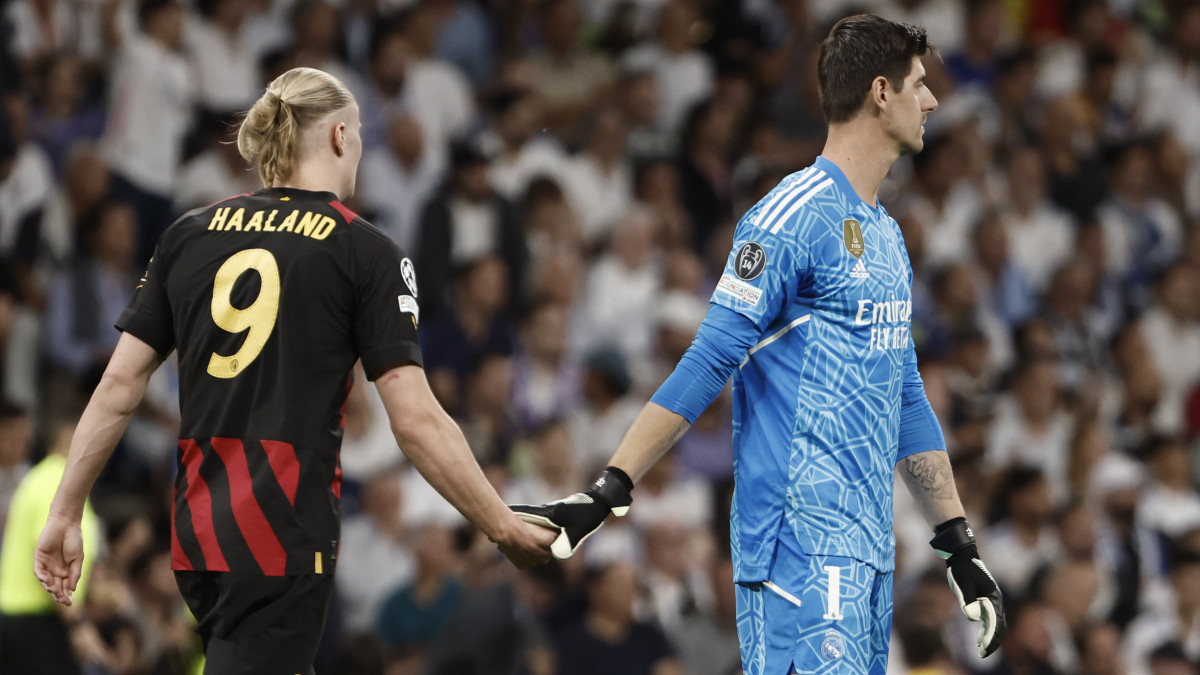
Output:
[[[962,614],[979,626],[979,656],[988,656],[1004,639],[1004,603],[996,579],[979,560],[967,519],[954,518],[934,528],[929,545],[946,561],[946,579]]]

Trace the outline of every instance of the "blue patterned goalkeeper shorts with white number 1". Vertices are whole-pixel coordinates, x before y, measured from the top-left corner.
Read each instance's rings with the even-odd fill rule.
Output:
[[[884,675],[892,573],[848,557],[784,562],[770,581],[737,586],[745,675]]]

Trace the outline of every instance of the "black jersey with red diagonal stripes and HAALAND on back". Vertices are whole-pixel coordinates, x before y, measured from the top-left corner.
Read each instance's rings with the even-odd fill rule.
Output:
[[[413,263],[329,192],[269,189],[170,226],[116,327],[179,352],[175,569],[330,573],[342,410],[421,363]]]

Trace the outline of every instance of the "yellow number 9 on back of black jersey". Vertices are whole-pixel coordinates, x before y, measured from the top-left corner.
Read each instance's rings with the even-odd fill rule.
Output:
[[[233,306],[233,285],[247,270],[258,273],[258,297],[244,310]],[[209,375],[228,380],[236,377],[258,358],[271,336],[280,316],[280,265],[265,249],[247,249],[229,257],[217,270],[212,283],[212,322],[222,330],[246,334],[241,348],[223,357],[216,352],[209,358]]]

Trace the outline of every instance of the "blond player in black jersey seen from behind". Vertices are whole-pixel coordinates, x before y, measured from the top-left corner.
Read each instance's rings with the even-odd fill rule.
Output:
[[[500,501],[430,392],[413,263],[340,202],[354,192],[359,127],[350,92],[312,68],[280,76],[250,109],[238,145],[266,187],[193,210],[158,240],[35,555],[42,585],[70,604],[84,498],[150,375],[176,350],[172,567],[211,675],[312,671],[358,359],[414,466],[514,563],[547,560],[554,538]]]

